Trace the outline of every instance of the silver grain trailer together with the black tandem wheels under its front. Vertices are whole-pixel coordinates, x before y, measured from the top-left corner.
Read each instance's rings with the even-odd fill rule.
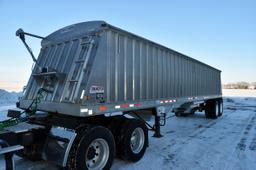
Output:
[[[109,169],[115,154],[140,160],[148,130],[161,137],[170,112],[222,115],[220,70],[104,21],[47,37],[16,34],[35,61],[17,103],[26,120],[20,120],[24,112],[11,110],[19,123],[4,128],[17,138],[12,145],[24,147],[17,152],[23,157],[68,169]],[[42,39],[37,59],[27,35]],[[149,116],[153,126],[145,121]]]

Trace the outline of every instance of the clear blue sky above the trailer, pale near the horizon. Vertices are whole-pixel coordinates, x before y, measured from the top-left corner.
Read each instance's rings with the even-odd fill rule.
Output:
[[[46,36],[77,22],[105,20],[222,70],[222,82],[256,81],[253,0],[0,0],[0,88],[20,90],[32,59],[18,28]],[[40,41],[27,39],[34,53]]]

